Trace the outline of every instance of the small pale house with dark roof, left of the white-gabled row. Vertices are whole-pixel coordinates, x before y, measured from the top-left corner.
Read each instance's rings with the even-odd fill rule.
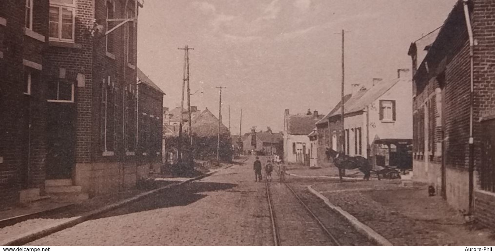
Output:
[[[310,115],[291,115],[285,110],[284,118],[284,161],[309,166],[311,142],[308,134],[323,116],[314,111]]]

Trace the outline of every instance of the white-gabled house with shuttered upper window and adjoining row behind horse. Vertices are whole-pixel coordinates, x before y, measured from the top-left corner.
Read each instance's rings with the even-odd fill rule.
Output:
[[[318,165],[326,165],[325,148],[369,158],[373,166],[412,166],[408,159],[412,142],[412,91],[409,69],[398,69],[397,79],[375,79],[370,89],[355,86],[345,97],[344,129],[341,104],[316,122]],[[326,133],[326,134],[325,134]]]

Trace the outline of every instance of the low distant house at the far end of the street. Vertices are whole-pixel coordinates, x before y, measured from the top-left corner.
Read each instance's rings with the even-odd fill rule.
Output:
[[[284,151],[283,143],[282,133],[273,133],[270,128],[265,132],[251,129],[251,132],[246,133],[243,138],[246,153],[255,151],[267,155],[281,155]]]

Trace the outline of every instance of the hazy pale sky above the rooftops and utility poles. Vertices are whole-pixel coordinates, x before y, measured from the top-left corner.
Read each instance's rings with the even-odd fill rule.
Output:
[[[284,111],[328,113],[351,84],[394,79],[411,68],[411,42],[440,27],[456,0],[146,0],[138,67],[180,106],[190,48],[191,105],[218,115],[232,134],[282,131]],[[185,103],[187,104],[187,103]]]

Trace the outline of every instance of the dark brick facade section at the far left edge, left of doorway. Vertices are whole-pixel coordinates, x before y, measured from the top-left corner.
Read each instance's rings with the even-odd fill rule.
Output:
[[[48,1],[0,1],[2,206],[45,190],[48,9]]]

